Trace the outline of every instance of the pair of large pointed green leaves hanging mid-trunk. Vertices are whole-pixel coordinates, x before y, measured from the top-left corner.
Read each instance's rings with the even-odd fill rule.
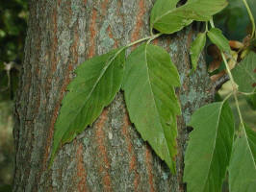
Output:
[[[125,49],[94,57],[76,69],[55,124],[51,163],[60,146],[90,126],[123,83],[131,121],[175,173],[176,116],[181,113],[174,90],[180,85],[178,71],[166,51],[149,42],[130,54],[124,68]]]

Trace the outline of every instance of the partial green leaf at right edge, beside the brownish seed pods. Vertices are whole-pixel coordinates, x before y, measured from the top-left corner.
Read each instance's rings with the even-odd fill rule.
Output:
[[[240,91],[256,90],[256,54],[254,52],[250,52],[231,72]]]

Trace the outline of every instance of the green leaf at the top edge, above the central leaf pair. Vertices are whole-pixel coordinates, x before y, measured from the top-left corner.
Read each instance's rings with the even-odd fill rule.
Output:
[[[188,0],[176,8],[177,0],[158,0],[150,15],[151,29],[172,34],[196,21],[210,20],[212,15],[227,6],[226,0]]]

